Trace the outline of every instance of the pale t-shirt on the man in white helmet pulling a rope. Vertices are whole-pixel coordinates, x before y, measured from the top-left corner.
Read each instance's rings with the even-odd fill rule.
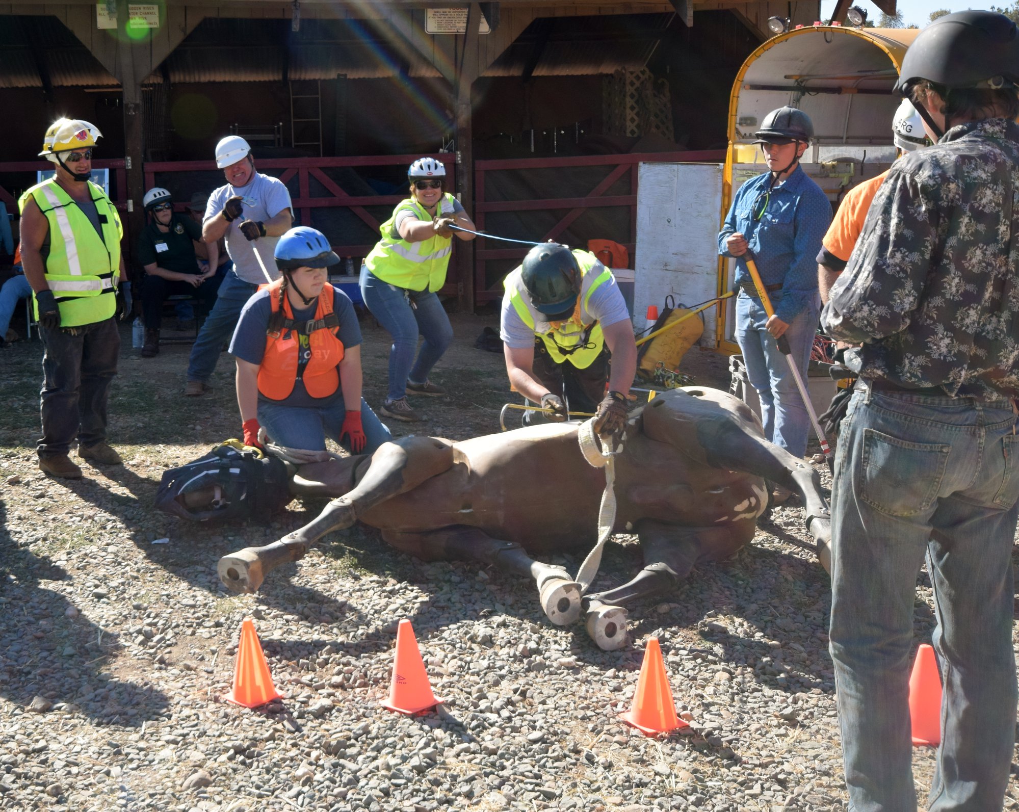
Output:
[[[265,222],[271,220],[283,209],[290,208],[290,193],[286,186],[275,177],[263,175],[256,172],[251,182],[242,188],[234,188],[229,183],[220,186],[209,196],[209,203],[205,208],[203,224],[211,220],[223,210],[226,201],[234,195],[239,195],[245,199],[245,210],[239,218],[234,220],[226,229],[226,253],[233,260],[233,270],[246,282],[262,284],[266,281],[265,274],[259,266],[255,251],[273,279],[279,276],[276,270],[276,261],[272,258],[278,236],[261,236],[258,239],[249,240],[240,232],[242,220],[254,220],[255,222]],[[292,216],[292,211],[291,211]]]

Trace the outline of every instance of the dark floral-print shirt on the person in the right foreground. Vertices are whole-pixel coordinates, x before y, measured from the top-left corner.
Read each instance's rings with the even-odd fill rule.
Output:
[[[864,378],[1019,396],[1019,125],[952,127],[892,166],[822,321]]]

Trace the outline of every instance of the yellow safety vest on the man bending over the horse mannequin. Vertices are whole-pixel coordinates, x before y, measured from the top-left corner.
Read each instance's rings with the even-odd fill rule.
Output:
[[[575,249],[573,255],[580,266],[582,281],[573,315],[566,321],[549,322],[548,316],[531,304],[531,296],[521,280],[521,268],[511,271],[502,284],[509,290],[509,302],[514,310],[524,324],[541,338],[552,361],[556,364],[569,361],[577,369],[583,370],[594,363],[605,345],[601,325],[588,313],[587,304],[598,285],[612,278],[612,272],[587,251]]]

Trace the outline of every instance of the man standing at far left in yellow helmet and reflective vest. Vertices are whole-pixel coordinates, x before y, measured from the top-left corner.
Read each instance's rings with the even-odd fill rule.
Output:
[[[21,260],[46,347],[39,468],[64,479],[82,478],[67,456],[75,439],[83,459],[121,462],[106,442],[106,404],[120,350],[114,313],[123,227],[110,199],[90,180],[101,134],[88,121],[55,121],[39,153],[55,172],[17,202]]]

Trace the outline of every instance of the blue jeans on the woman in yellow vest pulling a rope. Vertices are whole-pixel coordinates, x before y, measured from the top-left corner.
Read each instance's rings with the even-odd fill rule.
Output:
[[[397,400],[407,394],[408,379],[415,383],[428,380],[428,373],[452,341],[452,326],[435,293],[394,287],[369,271],[367,265],[361,266],[360,284],[365,306],[392,336],[387,398]],[[415,361],[419,333],[425,341]]]

